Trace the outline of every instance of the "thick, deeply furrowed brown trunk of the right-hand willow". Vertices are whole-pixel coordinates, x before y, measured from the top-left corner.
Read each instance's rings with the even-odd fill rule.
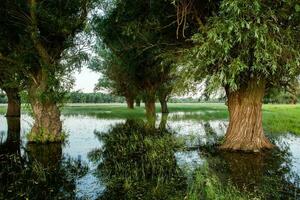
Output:
[[[256,78],[237,91],[226,89],[229,126],[221,149],[258,152],[273,147],[262,127],[264,91],[265,82]]]

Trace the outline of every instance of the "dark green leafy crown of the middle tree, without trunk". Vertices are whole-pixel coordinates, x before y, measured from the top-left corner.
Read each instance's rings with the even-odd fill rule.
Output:
[[[173,6],[164,0],[119,0],[104,12],[93,21],[101,38],[96,46],[99,64],[91,66],[104,74],[99,86],[123,96],[148,99],[156,91],[168,96],[179,75],[166,54],[175,53],[183,42],[176,39]]]

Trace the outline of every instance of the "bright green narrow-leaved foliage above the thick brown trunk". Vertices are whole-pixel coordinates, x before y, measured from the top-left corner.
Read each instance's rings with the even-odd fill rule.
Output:
[[[252,77],[284,85],[300,71],[296,1],[224,0],[218,15],[195,34],[187,64],[196,80],[232,90]],[[298,36],[297,36],[298,35]]]

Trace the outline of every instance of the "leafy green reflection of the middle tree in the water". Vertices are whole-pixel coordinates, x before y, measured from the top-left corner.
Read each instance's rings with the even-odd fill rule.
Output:
[[[178,143],[171,133],[127,121],[108,133],[96,133],[104,147],[90,153],[100,162],[105,182],[100,199],[183,199],[185,178],[176,164]]]

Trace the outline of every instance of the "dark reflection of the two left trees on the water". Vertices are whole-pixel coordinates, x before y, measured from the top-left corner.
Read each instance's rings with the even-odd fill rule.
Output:
[[[0,199],[75,199],[76,178],[88,170],[64,158],[62,144],[20,142],[20,119],[7,118],[7,139],[0,146]]]

